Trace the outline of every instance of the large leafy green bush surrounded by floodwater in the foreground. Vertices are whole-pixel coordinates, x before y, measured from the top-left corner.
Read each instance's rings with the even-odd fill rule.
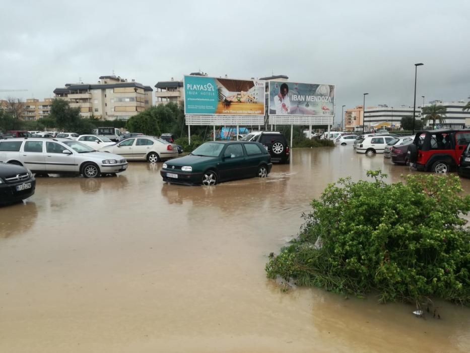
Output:
[[[299,237],[266,264],[268,277],[381,302],[431,296],[470,304],[470,231],[458,177],[408,175],[405,184],[340,179],[311,203]]]

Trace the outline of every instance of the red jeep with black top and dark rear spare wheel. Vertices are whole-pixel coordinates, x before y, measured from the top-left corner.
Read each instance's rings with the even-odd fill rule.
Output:
[[[458,166],[469,142],[470,130],[418,131],[408,147],[408,160],[418,170],[446,173]]]

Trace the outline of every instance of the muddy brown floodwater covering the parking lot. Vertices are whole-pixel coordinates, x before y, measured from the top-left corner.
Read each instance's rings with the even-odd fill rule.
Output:
[[[437,303],[442,318],[424,320],[265,276],[327,183],[408,167],[338,146],[216,187],[164,184],[160,168],[37,178],[26,203],[0,208],[0,352],[470,351],[468,308]]]

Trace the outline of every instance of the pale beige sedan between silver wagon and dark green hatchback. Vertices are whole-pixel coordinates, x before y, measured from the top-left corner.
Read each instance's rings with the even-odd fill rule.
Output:
[[[151,163],[178,156],[175,144],[151,136],[129,137],[116,144],[106,146],[100,151],[116,153],[127,160],[146,160]]]

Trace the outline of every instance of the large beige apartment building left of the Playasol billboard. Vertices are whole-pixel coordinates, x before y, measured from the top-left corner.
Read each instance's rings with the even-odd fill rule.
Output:
[[[102,120],[128,120],[152,105],[150,86],[119,76],[100,76],[97,84],[65,84],[54,89],[56,98],[68,100],[80,108],[83,117]]]

